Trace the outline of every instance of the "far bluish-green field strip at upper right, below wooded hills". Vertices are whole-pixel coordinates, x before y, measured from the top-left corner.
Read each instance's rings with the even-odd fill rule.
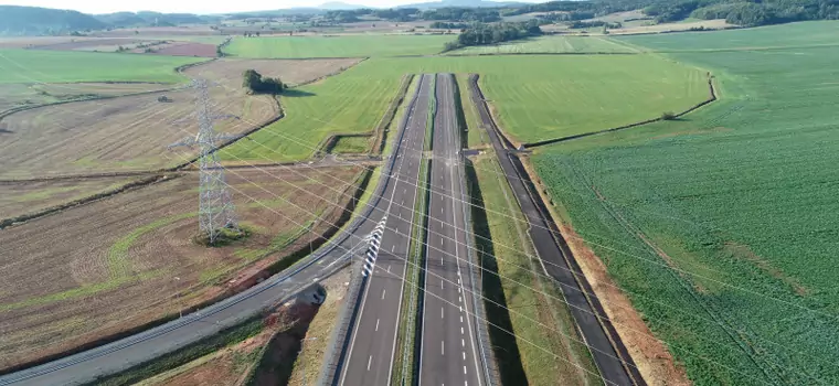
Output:
[[[772,47],[839,46],[839,21],[808,21],[708,33],[616,36],[619,42],[655,51],[762,50]]]

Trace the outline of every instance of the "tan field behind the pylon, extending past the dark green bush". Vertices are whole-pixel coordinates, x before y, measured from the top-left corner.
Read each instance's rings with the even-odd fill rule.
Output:
[[[257,68],[295,84],[341,71],[357,60],[234,61],[222,60],[191,67],[187,75],[205,77],[219,87],[211,89],[217,114],[241,120],[216,121],[216,131],[240,133],[279,114],[276,100],[266,95],[247,95],[242,72]],[[75,85],[66,86],[75,88]],[[158,94],[106,100],[77,101],[12,114],[2,119],[0,179],[79,174],[105,171],[157,170],[183,163],[197,149],[178,151],[167,146],[194,136],[194,92],[160,93],[172,101],[160,103]],[[184,119],[181,122],[178,120]],[[51,138],[44,143],[44,138]]]

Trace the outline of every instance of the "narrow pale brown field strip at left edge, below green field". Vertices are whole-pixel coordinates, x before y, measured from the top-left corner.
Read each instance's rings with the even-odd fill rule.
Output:
[[[38,106],[97,96],[136,94],[168,87],[170,86],[156,83],[1,84],[0,114],[23,106]],[[2,125],[0,122],[0,127]]]

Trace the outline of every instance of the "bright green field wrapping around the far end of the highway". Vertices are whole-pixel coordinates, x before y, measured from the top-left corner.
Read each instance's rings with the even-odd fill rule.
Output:
[[[480,73],[502,126],[524,142],[656,118],[709,94],[704,72],[652,55],[371,58],[282,97],[287,116],[227,160],[297,161],[331,132],[372,131],[408,73]]]

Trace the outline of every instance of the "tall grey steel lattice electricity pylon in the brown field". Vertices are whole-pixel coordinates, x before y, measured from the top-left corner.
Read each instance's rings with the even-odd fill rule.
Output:
[[[194,138],[187,138],[172,143],[169,148],[199,146],[199,232],[206,236],[210,245],[215,244],[222,229],[240,233],[236,221],[235,206],[224,180],[224,168],[219,160],[215,142],[230,139],[238,139],[241,136],[216,133],[213,130],[213,121],[217,119],[235,118],[236,116],[213,116],[210,114],[210,93],[204,79],[192,81],[198,97],[195,99],[198,133]]]

